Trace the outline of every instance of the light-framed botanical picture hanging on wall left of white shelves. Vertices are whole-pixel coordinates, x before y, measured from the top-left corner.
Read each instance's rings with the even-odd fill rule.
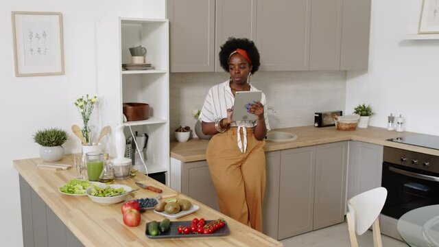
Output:
[[[64,75],[62,14],[12,12],[15,76]]]

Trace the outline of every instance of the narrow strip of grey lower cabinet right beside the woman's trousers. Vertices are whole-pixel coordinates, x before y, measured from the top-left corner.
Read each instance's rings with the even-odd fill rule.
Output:
[[[262,205],[263,233],[274,239],[278,235],[279,176],[281,176],[281,151],[265,152],[267,183]]]

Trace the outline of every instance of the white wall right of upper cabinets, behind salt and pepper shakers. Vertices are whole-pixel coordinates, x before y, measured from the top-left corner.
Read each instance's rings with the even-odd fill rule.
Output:
[[[366,102],[377,113],[372,126],[401,114],[406,130],[439,135],[439,40],[403,38],[417,32],[421,4],[372,0],[369,69],[347,73],[346,112]]]

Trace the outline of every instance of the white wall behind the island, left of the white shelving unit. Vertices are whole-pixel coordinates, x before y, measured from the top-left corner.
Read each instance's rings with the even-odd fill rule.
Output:
[[[11,11],[62,12],[65,75],[14,77]],[[38,156],[32,134],[81,124],[73,106],[76,95],[95,93],[95,21],[104,17],[164,18],[165,0],[15,0],[0,1],[0,203],[1,246],[22,246],[19,176],[12,160]],[[80,152],[71,135],[67,153]]]

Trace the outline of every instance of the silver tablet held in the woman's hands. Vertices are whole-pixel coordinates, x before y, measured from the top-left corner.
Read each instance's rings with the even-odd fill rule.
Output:
[[[235,93],[235,104],[233,104],[233,121],[257,120],[258,116],[248,113],[248,104],[261,101],[261,91],[239,91]]]

